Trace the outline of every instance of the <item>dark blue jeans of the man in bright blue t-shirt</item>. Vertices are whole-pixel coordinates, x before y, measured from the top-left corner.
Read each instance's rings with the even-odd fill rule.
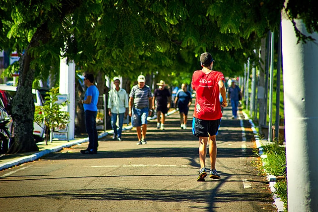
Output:
[[[88,150],[93,149],[97,151],[98,135],[97,135],[97,129],[96,129],[96,116],[97,116],[97,111],[90,111],[90,110],[85,111],[85,127],[86,127],[86,132],[89,138],[89,144],[87,149]]]

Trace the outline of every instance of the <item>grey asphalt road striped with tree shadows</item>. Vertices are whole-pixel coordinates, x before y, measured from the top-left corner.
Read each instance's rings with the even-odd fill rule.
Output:
[[[101,139],[98,154],[80,154],[83,143],[1,171],[0,211],[277,211],[268,182],[252,165],[248,120],[230,117],[226,108],[217,136],[219,180],[196,181],[192,111],[186,130],[176,112],[164,131],[149,121],[146,145],[136,145],[133,128],[123,141]]]

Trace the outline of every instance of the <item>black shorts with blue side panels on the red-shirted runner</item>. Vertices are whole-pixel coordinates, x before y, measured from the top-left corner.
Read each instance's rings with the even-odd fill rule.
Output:
[[[217,120],[202,120],[193,117],[192,133],[197,137],[210,137],[218,134],[221,119]],[[209,136],[210,135],[210,136]]]

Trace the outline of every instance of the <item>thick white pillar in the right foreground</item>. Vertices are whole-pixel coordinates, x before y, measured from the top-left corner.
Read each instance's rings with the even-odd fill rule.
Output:
[[[288,211],[318,211],[318,34],[297,44],[292,22],[282,17]]]

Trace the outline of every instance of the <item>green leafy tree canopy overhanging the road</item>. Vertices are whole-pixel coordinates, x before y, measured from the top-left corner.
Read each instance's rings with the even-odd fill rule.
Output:
[[[31,86],[35,78],[58,74],[60,57],[88,72],[136,79],[143,74],[169,75],[171,83],[200,69],[199,56],[211,52],[215,70],[243,73],[260,39],[280,23],[301,17],[317,31],[313,1],[257,0],[3,0],[0,2],[0,48],[22,54],[13,109],[18,140],[29,136],[34,115]],[[307,5],[307,6],[306,6]],[[310,7],[308,6],[310,5]],[[309,12],[308,12],[309,11]],[[301,34],[300,34],[301,37]],[[169,82],[168,82],[169,83]],[[29,94],[29,95],[26,95]],[[28,106],[29,105],[29,106]],[[26,120],[21,117],[27,115]],[[21,120],[24,120],[22,123]],[[24,125],[23,128],[19,128]],[[20,145],[20,144],[19,144]],[[34,145],[33,147],[34,148]],[[17,150],[17,151],[28,151]]]

